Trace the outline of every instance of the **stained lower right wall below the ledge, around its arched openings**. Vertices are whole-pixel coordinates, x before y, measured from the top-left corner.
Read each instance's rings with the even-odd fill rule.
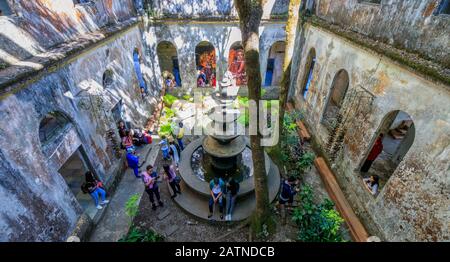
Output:
[[[296,107],[319,146],[326,152],[330,133],[321,123],[335,74],[349,73],[344,108],[352,108],[337,158],[332,162],[349,202],[369,231],[390,241],[450,239],[450,93],[446,86],[425,80],[379,54],[367,51],[319,27],[306,24],[305,42],[294,79]],[[445,38],[445,37],[444,37]],[[439,41],[439,40],[438,40]],[[317,62],[310,90],[303,99],[308,52]],[[448,52],[448,50],[447,50]],[[358,91],[357,95],[355,91]],[[370,97],[374,96],[372,105]],[[360,102],[360,103],[357,103]],[[377,197],[372,197],[358,170],[375,134],[389,112],[408,113],[415,125],[414,143]]]

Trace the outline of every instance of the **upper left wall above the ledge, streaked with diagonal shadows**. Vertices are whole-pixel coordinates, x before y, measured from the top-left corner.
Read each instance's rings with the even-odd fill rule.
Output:
[[[0,62],[14,64],[49,48],[135,15],[132,0],[8,1],[14,15],[0,16]]]

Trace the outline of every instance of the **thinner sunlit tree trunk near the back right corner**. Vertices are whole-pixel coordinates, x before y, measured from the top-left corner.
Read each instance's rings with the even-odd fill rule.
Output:
[[[302,2],[301,0],[289,1],[289,15],[288,21],[286,23],[286,51],[284,53],[283,76],[281,78],[281,85],[280,85],[280,111],[279,111],[280,137],[283,136],[282,127],[284,120],[284,112],[287,103],[289,85],[291,83],[292,55],[294,53],[295,36],[301,2]]]

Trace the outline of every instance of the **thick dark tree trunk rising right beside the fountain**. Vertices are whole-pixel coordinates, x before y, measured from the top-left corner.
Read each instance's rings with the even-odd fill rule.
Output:
[[[261,99],[261,72],[259,63],[259,25],[263,12],[263,0],[234,0],[242,33],[245,63],[247,72],[247,86],[249,99],[256,102],[257,118],[250,121],[259,127],[259,100]],[[269,192],[264,160],[264,149],[261,146],[261,134],[250,135],[253,159],[253,179],[255,181],[256,209],[251,219],[251,230],[255,237],[264,230],[271,230],[273,226],[269,206]]]

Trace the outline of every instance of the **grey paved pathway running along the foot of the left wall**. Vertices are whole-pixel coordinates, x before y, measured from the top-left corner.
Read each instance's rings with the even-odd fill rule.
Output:
[[[159,139],[153,137],[153,143],[150,146],[139,148],[137,151],[139,155],[146,158],[145,166],[154,165],[156,157],[159,153]],[[137,179],[133,171],[128,168],[117,186],[116,191],[110,198],[110,203],[107,206],[102,220],[99,221],[94,228],[89,241],[90,242],[117,242],[128,232],[130,223],[129,217],[125,214],[125,204],[128,199],[135,193],[142,196],[144,186],[141,179]],[[139,201],[140,201],[139,197]],[[139,203],[138,203],[139,204]]]

